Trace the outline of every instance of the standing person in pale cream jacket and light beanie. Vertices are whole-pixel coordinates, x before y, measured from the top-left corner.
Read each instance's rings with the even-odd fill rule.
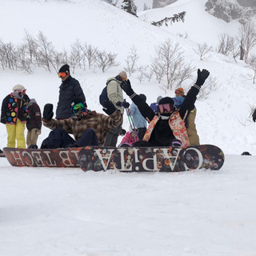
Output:
[[[106,81],[106,94],[110,102],[114,104],[115,108],[119,110],[121,114],[124,113],[125,108],[130,106],[128,102],[124,101],[122,88],[120,87],[121,82],[126,80],[126,71],[122,70],[117,76],[114,78],[108,78]],[[110,132],[106,134],[106,142],[104,146],[116,146],[118,142],[118,135],[120,134],[121,130],[122,124],[113,130],[110,130]]]

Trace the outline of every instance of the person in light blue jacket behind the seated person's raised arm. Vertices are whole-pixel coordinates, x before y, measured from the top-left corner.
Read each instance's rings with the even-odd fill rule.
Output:
[[[139,97],[142,98],[143,102],[146,102],[145,94],[139,94]],[[138,129],[138,138],[139,140],[142,140],[144,134],[146,133],[147,122],[146,119],[143,118],[141,112],[139,112],[138,106],[136,106],[134,102],[132,102],[130,105],[130,114],[134,119],[134,126],[136,126]]]

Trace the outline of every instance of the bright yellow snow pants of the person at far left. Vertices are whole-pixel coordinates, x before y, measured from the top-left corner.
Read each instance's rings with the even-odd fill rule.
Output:
[[[18,147],[25,149],[26,141],[25,141],[25,122],[21,122],[17,119],[16,124],[8,124],[6,123],[6,131],[7,131],[7,147]],[[16,146],[17,141],[17,146]]]

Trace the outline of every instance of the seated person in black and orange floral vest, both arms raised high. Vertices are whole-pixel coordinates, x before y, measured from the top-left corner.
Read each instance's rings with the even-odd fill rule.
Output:
[[[172,98],[165,97],[158,103],[158,114],[155,114],[154,110],[134,93],[129,80],[123,81],[121,83],[122,90],[138,106],[142,116],[150,122],[142,141],[135,142],[134,146],[172,146],[172,142],[175,139],[181,142],[181,146],[189,146],[190,142],[186,133],[184,119],[187,111],[194,109],[196,96],[209,74],[208,70],[201,71],[198,69],[197,81],[194,86],[191,86],[180,109],[175,109]]]

